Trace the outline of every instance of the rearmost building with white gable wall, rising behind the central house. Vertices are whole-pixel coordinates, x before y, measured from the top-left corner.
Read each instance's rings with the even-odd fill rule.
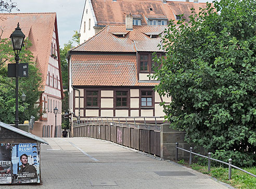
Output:
[[[161,26],[168,25],[169,20],[188,22],[191,8],[198,13],[199,7],[205,8],[206,3],[198,3],[198,0],[86,0],[80,24],[80,44],[107,25],[125,25],[127,14],[133,17],[133,25]]]

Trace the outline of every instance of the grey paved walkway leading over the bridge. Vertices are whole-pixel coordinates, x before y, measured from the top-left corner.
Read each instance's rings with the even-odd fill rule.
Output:
[[[173,162],[93,138],[44,138],[42,185],[0,188],[228,188]]]

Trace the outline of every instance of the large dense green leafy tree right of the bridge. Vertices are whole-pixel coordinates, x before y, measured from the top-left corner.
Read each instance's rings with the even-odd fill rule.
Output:
[[[162,37],[156,91],[186,141],[239,166],[256,165],[256,2],[221,0],[189,23],[171,24]],[[216,13],[218,12],[218,13]],[[157,61],[157,57],[155,58]]]

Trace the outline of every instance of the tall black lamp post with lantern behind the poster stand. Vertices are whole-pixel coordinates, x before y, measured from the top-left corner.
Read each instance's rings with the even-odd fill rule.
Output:
[[[16,61],[16,108],[15,108],[15,127],[19,125],[19,117],[18,117],[18,90],[19,90],[19,54],[21,48],[23,46],[23,41],[25,35],[21,32],[21,28],[19,27],[19,23],[15,28],[15,31],[10,35],[12,47],[14,48],[15,52],[15,61]]]

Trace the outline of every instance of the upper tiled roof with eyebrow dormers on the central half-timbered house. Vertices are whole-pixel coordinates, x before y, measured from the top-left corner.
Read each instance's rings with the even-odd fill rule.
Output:
[[[159,36],[167,26],[133,26],[133,31],[127,31],[125,25],[106,26],[104,30],[88,39],[82,45],[71,51],[89,52],[162,52],[158,44]]]

